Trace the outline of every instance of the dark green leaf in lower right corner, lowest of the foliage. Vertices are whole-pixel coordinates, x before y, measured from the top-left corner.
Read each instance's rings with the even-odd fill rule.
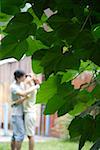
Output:
[[[93,117],[90,115],[75,117],[69,125],[69,133],[71,138],[81,136],[79,143],[79,150],[81,150],[87,140],[92,141],[93,134],[95,134],[95,121]]]

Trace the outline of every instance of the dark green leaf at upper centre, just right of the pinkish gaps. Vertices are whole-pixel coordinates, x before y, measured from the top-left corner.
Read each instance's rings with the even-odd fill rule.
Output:
[[[71,44],[79,33],[79,24],[73,23],[66,17],[55,14],[48,19],[48,24],[57,34],[59,39],[66,40]]]

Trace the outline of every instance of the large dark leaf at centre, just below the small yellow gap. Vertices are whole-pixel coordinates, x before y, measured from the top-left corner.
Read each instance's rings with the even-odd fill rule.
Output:
[[[76,64],[74,63],[76,61]],[[71,63],[70,63],[71,62]],[[62,44],[55,46],[45,53],[41,60],[46,75],[57,73],[58,71],[66,71],[66,69],[78,69],[80,65],[79,58],[70,52],[62,53]]]

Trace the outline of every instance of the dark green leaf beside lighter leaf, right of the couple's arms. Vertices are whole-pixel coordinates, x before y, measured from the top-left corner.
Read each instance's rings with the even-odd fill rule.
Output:
[[[74,89],[74,87],[71,85],[71,82],[64,83],[59,86],[58,95],[62,96],[65,103],[63,103],[63,105],[58,109],[58,116],[65,115],[74,109],[75,105],[77,104],[77,94],[78,91]]]

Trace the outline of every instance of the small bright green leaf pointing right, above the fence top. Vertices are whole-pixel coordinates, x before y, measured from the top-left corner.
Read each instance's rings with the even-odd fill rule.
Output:
[[[28,51],[26,52],[26,55],[28,55],[28,56],[33,55],[34,52],[36,52],[40,49],[48,48],[41,41],[32,39],[31,37],[29,37],[27,39],[27,42],[28,42],[29,48],[28,48]]]

